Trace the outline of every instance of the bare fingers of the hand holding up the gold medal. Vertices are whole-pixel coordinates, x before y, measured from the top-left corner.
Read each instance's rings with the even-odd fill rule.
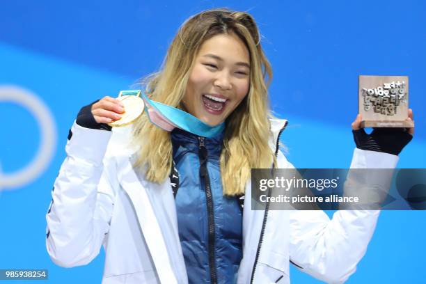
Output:
[[[124,113],[124,105],[113,97],[103,97],[92,105],[92,114],[97,123],[111,123],[121,118],[120,113]]]

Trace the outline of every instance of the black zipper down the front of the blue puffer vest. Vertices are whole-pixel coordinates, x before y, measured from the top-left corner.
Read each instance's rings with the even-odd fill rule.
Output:
[[[198,137],[198,157],[200,159],[200,180],[204,180],[205,200],[207,203],[207,219],[208,219],[208,247],[209,247],[209,267],[210,267],[210,281],[212,284],[217,283],[216,276],[216,263],[214,258],[214,210],[213,210],[213,196],[212,189],[210,188],[210,177],[207,171],[207,148],[204,145],[204,137]]]

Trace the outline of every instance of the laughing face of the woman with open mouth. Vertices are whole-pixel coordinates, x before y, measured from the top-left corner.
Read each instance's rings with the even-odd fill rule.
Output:
[[[219,34],[201,45],[182,104],[207,125],[219,125],[246,97],[249,86],[246,45],[235,34]]]

